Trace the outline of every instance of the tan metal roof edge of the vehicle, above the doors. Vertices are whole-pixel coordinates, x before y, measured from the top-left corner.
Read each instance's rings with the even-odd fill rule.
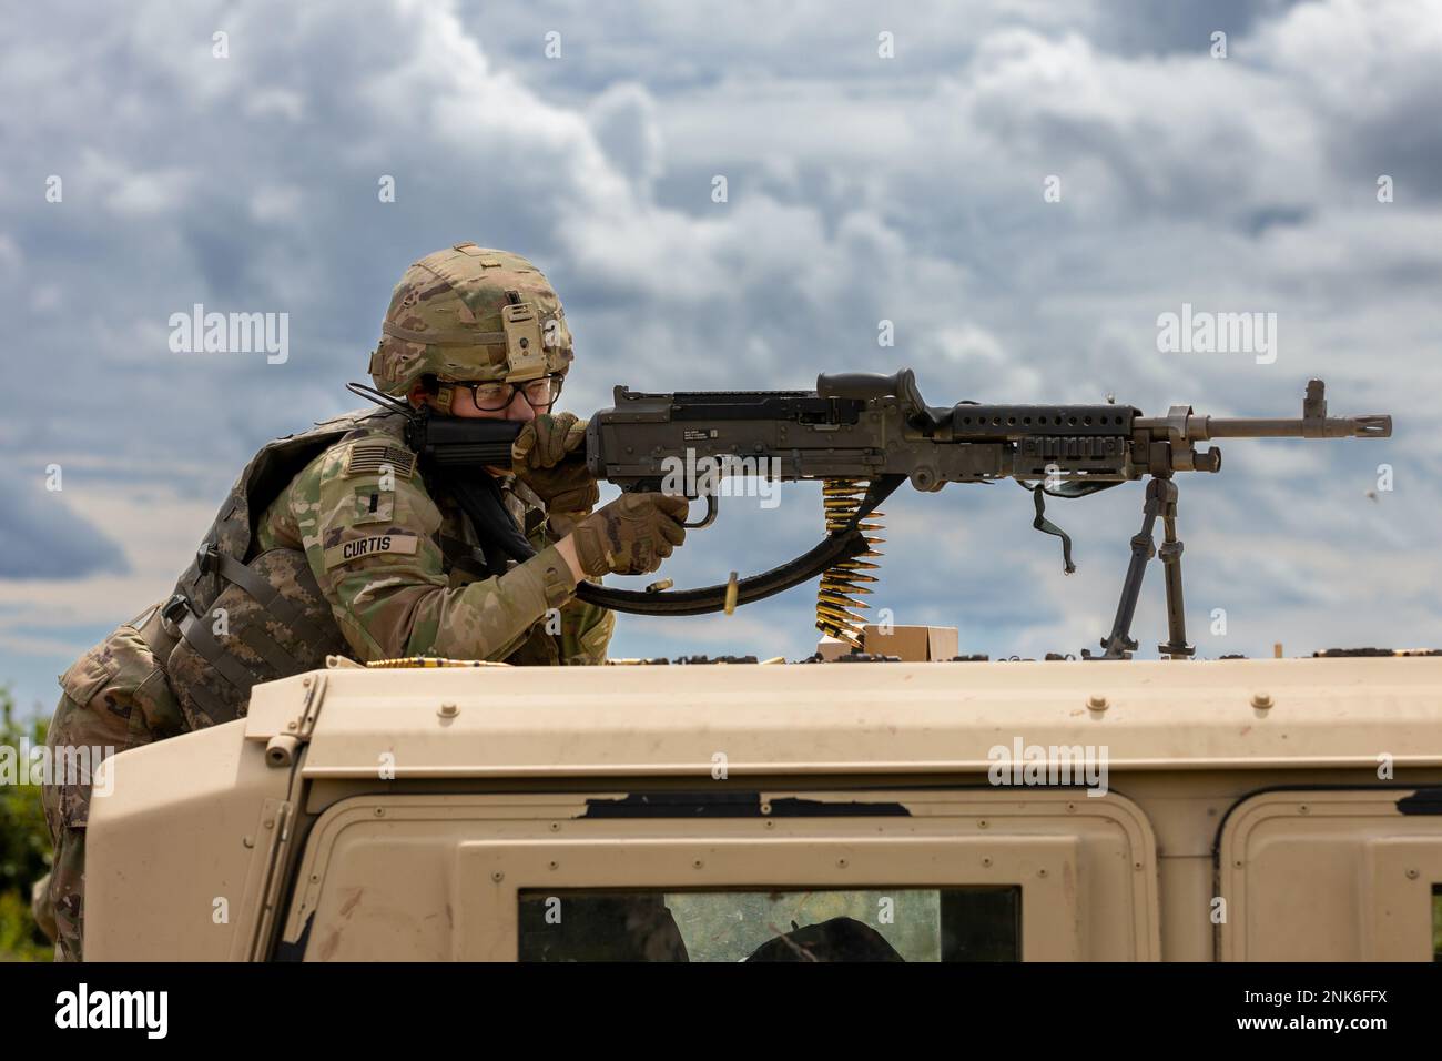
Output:
[[[311,684],[314,683],[314,684]],[[309,697],[309,719],[307,715]],[[1269,704],[1269,706],[1268,706]],[[339,668],[258,686],[247,738],[304,775],[929,774],[1106,746],[1158,765],[1442,765],[1442,658]]]

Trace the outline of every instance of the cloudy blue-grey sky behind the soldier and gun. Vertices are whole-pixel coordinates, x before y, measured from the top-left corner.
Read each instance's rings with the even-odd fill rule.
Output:
[[[262,442],[355,404],[343,384],[391,286],[461,240],[551,276],[577,336],[565,404],[583,414],[616,384],[793,388],[910,365],[932,404],[1113,393],[1148,413],[1298,416],[1324,377],[1334,413],[1390,411],[1394,437],[1233,442],[1223,475],[1185,476],[1193,637],[1204,655],[1442,645],[1442,4],[880,12],[247,0],[13,16],[0,683],[49,709],[56,673],[169,592]],[[287,313],[288,358],[172,352],[169,318],[193,303]],[[1159,352],[1158,315],[1184,303],[1276,313],[1275,362]],[[1141,504],[1139,486],[1057,502],[1080,566],[1063,577],[1014,485],[903,488],[872,603],[994,657],[1094,645]],[[771,510],[735,498],[663,575],[770,567],[820,524],[815,484]],[[1144,654],[1164,625],[1154,572]],[[808,588],[731,618],[623,616],[614,652],[797,658],[815,637]]]

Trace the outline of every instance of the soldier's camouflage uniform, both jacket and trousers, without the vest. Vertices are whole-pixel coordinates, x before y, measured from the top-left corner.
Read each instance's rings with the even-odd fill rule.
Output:
[[[378,452],[386,459],[368,465]],[[410,458],[394,420],[358,420],[270,502],[249,553],[303,550],[360,661],[433,654],[603,663],[614,615],[572,598],[575,583],[551,544],[539,499],[508,476],[506,507],[539,551],[485,577],[469,520],[433,497]],[[193,728],[166,671],[177,631],[160,611],[151,606],[121,625],[61,676],[63,694],[46,739],[52,749],[118,754]],[[56,924],[56,957],[79,959],[91,785],[48,784],[42,801],[55,860],[36,915]]]

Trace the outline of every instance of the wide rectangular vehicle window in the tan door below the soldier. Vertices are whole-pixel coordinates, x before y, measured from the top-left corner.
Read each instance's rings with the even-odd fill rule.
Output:
[[[532,889],[522,961],[1019,961],[1021,888]]]

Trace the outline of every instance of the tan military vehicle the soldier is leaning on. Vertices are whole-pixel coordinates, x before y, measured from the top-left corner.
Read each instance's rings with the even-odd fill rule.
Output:
[[[1438,657],[333,658],[104,769],[98,960],[1423,961],[1442,938]]]

